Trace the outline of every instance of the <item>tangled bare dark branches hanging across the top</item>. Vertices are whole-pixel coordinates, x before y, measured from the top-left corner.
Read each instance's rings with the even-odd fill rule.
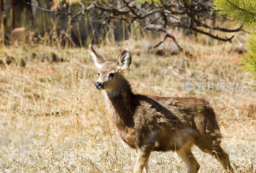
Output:
[[[138,4],[132,0],[121,0],[121,1],[93,1],[89,6],[85,7],[82,2],[78,3],[81,6],[81,10],[77,13],[68,12],[66,3],[66,9],[64,12],[44,9],[37,5],[23,0],[24,3],[31,5],[37,9],[45,12],[51,12],[55,15],[70,15],[69,23],[81,19],[85,12],[96,11],[99,12],[98,20],[93,22],[101,22],[102,25],[106,25],[109,28],[116,28],[109,24],[111,19],[123,20],[129,27],[133,21],[138,21],[143,29],[153,30],[155,32],[164,33],[164,39],[159,42],[156,46],[163,43],[166,38],[172,38],[173,42],[177,47],[182,50],[176,39],[171,33],[166,31],[166,28],[179,27],[187,28],[204,35],[208,35],[214,39],[221,41],[231,42],[232,37],[222,38],[218,35],[213,35],[211,32],[204,31],[203,28],[209,28],[210,30],[218,30],[221,32],[232,33],[242,30],[242,26],[236,29],[221,28],[210,25],[208,21],[218,21],[216,19],[215,11],[211,8],[212,0],[197,0],[197,1],[185,1],[178,0],[174,2],[172,0],[163,1],[160,0],[161,4],[155,4],[153,1],[150,3],[145,2],[144,4]],[[36,1],[37,2],[37,1]],[[223,17],[223,21],[227,18]],[[200,28],[199,28],[200,27]],[[69,38],[68,38],[69,39]],[[156,47],[155,46],[155,47]]]

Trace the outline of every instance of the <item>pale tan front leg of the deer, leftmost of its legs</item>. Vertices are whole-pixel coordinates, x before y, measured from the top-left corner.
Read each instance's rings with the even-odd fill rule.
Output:
[[[137,155],[135,167],[133,169],[133,173],[141,173],[142,172],[145,164],[148,164],[148,158],[149,158],[149,155],[152,152],[152,150],[153,150],[152,145],[144,145],[141,148],[137,149],[138,155]]]

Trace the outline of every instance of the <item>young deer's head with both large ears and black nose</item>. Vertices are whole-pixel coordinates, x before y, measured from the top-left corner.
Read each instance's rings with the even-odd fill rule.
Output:
[[[122,71],[128,68],[132,62],[132,55],[128,48],[120,53],[116,62],[108,61],[103,55],[95,51],[92,45],[89,45],[92,60],[98,71],[99,79],[95,83],[97,90],[111,91],[116,88],[117,82],[122,75]]]

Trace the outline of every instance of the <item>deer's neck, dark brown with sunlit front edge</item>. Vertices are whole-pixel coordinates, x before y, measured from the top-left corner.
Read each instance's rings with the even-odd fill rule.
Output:
[[[134,126],[133,114],[136,107],[133,103],[134,96],[130,83],[123,76],[118,80],[114,90],[105,90],[108,111],[118,129]]]

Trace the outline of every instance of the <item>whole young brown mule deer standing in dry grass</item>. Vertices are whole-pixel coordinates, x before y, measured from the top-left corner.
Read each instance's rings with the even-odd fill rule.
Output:
[[[169,98],[134,94],[122,71],[132,61],[128,48],[116,62],[108,61],[89,45],[94,64],[100,68],[97,90],[104,96],[111,118],[121,137],[138,155],[133,173],[148,172],[152,151],[176,151],[186,163],[188,173],[200,165],[191,146],[213,156],[224,169],[234,172],[229,156],[220,146],[222,135],[212,106],[202,98]]]

